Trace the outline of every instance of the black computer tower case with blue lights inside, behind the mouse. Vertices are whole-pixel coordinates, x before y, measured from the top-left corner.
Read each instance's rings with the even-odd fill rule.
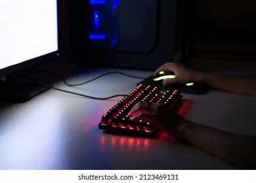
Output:
[[[189,63],[195,7],[194,0],[70,1],[71,59],[147,70]]]

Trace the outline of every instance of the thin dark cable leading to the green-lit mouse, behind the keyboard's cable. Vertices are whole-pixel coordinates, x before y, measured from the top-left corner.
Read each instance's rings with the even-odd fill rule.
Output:
[[[100,76],[96,76],[95,78],[93,78],[93,79],[91,79],[91,80],[87,80],[87,81],[81,82],[81,83],[79,83],[79,84],[68,84],[68,82],[66,82],[66,78],[65,78],[63,75],[60,75],[60,74],[55,73],[55,72],[53,72],[53,71],[35,70],[34,72],[45,72],[45,73],[51,73],[52,75],[56,75],[56,76],[62,78],[62,80],[63,80],[64,84],[66,84],[66,86],[81,86],[81,85],[83,85],[83,84],[87,84],[87,83],[92,82],[92,81],[94,81],[94,80],[96,80],[96,79],[98,79],[98,78],[101,78],[101,77],[103,77],[103,76],[112,75],[112,74],[119,74],[119,75],[129,76],[129,77],[131,77],[131,78],[137,78],[137,79],[146,79],[146,78],[143,78],[143,77],[140,77],[140,76],[133,76],[133,75],[128,75],[128,74],[126,74],[126,73],[121,73],[121,72],[119,72],[119,71],[113,71],[113,72],[109,72],[109,73],[102,74],[102,75],[100,75]]]

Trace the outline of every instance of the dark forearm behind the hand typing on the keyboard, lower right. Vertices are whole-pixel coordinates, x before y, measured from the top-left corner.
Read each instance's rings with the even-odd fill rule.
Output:
[[[203,151],[242,169],[256,168],[256,138],[227,133],[205,125],[187,122],[183,125],[182,139]]]

